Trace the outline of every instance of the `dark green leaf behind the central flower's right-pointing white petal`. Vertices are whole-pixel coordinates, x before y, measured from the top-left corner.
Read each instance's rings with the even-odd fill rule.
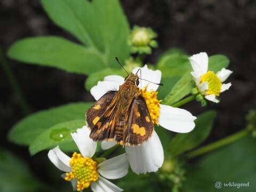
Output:
[[[215,111],[206,111],[195,120],[196,127],[189,133],[178,133],[170,142],[169,153],[173,156],[200,145],[210,134],[216,116]]]

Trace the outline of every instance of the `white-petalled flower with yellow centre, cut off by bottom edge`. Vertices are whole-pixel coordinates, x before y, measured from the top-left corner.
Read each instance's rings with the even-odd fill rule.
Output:
[[[81,154],[74,153],[70,158],[59,147],[55,147],[49,151],[49,159],[59,170],[66,172],[62,177],[71,181],[74,190],[81,191],[91,186],[94,192],[123,191],[107,179],[119,179],[128,173],[127,155],[122,154],[98,163],[97,159],[91,158],[97,142],[89,138],[89,134],[87,126],[77,129],[77,133],[71,133]]]

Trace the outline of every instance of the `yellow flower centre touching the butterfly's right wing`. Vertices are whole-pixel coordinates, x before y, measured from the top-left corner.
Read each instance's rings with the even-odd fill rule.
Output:
[[[158,117],[160,115],[160,103],[162,102],[162,100],[157,99],[157,91],[147,91],[147,87],[148,85],[140,89],[142,92],[142,97],[147,103],[148,111],[150,113],[153,124],[158,125]]]

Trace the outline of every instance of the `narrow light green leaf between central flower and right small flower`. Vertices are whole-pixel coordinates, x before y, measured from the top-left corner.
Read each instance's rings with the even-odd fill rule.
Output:
[[[165,105],[172,105],[173,103],[179,101],[187,94],[191,92],[194,87],[194,82],[191,74],[187,72],[183,75],[180,80],[172,87],[172,90],[163,100]]]

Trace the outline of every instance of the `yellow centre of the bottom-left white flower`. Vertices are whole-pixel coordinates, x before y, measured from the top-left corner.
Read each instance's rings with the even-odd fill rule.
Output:
[[[89,187],[92,181],[98,180],[97,162],[93,161],[93,159],[74,153],[69,164],[72,167],[72,171],[66,173],[65,180],[77,179],[78,191]]]

